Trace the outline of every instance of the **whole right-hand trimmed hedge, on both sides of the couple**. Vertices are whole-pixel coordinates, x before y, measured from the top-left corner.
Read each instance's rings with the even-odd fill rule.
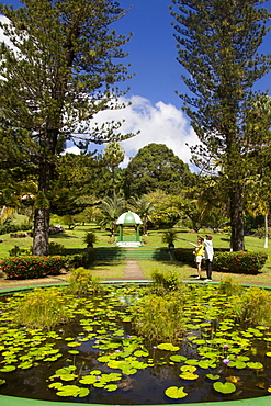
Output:
[[[194,266],[195,257],[191,248],[174,249],[178,261]],[[213,270],[233,273],[255,274],[264,266],[268,255],[261,251],[237,251],[228,249],[214,249]],[[203,262],[204,263],[204,262]]]

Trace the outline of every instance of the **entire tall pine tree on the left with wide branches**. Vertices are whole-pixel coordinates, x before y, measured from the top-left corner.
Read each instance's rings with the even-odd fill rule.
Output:
[[[34,162],[38,193],[33,252],[48,253],[49,201],[57,156],[65,143],[79,147],[125,137],[121,123],[92,124],[94,114],[116,109],[115,87],[128,78],[120,61],[129,37],[110,31],[125,15],[110,0],[22,0],[13,10],[0,3],[8,20],[0,25],[9,43],[0,44],[0,135],[16,147],[16,161]],[[4,21],[4,20],[2,20]],[[11,44],[11,45],[8,45]],[[22,151],[22,156],[20,155]],[[22,163],[23,165],[23,163]]]

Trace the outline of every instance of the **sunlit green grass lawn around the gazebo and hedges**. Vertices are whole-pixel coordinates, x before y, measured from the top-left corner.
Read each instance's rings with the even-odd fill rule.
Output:
[[[77,250],[82,249],[86,247],[82,243],[82,237],[84,236],[86,232],[94,232],[98,237],[98,244],[95,247],[114,247],[114,239],[111,238],[108,232],[101,230],[94,224],[88,224],[83,226],[77,226],[76,228],[69,230],[68,227],[65,228],[65,234],[58,234],[50,236],[50,241],[55,241],[58,244],[64,245],[64,247],[69,250]],[[200,235],[204,236],[208,230],[201,230]],[[140,249],[148,249],[148,248],[159,248],[165,247],[161,244],[161,236],[162,230],[150,230],[148,236],[143,236],[144,247]],[[196,243],[196,234],[190,232],[188,229],[180,228],[178,229],[178,236],[180,238],[185,238],[190,241]],[[0,243],[0,258],[9,257],[9,251],[15,245],[20,248],[30,248],[32,246],[32,238],[10,238],[9,234],[0,236],[3,239],[3,243]],[[179,247],[189,247],[191,245],[188,241],[183,241],[178,239],[176,241],[176,248]],[[213,245],[214,247],[219,248],[228,248],[229,247],[229,236],[223,233],[213,234]],[[264,266],[264,268],[258,273],[257,275],[244,275],[244,274],[232,274],[230,275],[240,281],[242,283],[251,283],[251,284],[261,284],[261,285],[271,285],[271,241],[270,248],[263,248],[263,239],[259,239],[256,237],[245,237],[245,245],[247,250],[262,250],[269,253],[269,259]],[[178,261],[147,261],[140,260],[138,261],[144,274],[146,278],[149,278],[151,270],[161,269],[163,271],[177,271],[182,279],[193,279],[196,275],[195,268],[191,268]],[[97,274],[101,280],[106,279],[122,279],[124,275],[125,263],[124,262],[110,262],[110,263],[99,263],[95,262],[93,266],[93,272]],[[205,275],[205,271],[203,271],[203,275]],[[226,273],[222,272],[213,272],[213,280],[219,281]],[[0,285],[2,282],[0,282]]]

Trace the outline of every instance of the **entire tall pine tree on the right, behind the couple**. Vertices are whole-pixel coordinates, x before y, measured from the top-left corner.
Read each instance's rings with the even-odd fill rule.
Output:
[[[262,0],[172,0],[178,60],[190,93],[181,95],[201,145],[194,162],[219,169],[229,198],[233,250],[244,250],[244,193],[253,173],[251,136],[246,123],[257,92],[255,82],[270,70],[258,49],[270,14]],[[259,97],[259,93],[258,93]]]

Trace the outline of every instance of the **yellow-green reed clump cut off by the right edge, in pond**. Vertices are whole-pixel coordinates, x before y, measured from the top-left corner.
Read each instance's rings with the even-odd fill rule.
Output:
[[[250,287],[236,296],[234,312],[240,323],[253,325],[271,324],[271,292],[260,287]]]

